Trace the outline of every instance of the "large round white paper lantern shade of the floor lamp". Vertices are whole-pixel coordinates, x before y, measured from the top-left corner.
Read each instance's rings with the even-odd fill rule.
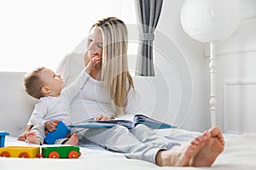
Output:
[[[183,30],[200,42],[230,37],[240,25],[239,0],[185,0],[180,20]]]

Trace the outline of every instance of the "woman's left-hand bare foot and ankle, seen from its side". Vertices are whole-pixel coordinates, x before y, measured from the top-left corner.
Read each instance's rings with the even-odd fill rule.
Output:
[[[191,158],[195,156],[211,136],[209,131],[202,133],[189,144],[177,146],[172,150],[160,150],[156,156],[156,164],[159,166],[188,167]]]

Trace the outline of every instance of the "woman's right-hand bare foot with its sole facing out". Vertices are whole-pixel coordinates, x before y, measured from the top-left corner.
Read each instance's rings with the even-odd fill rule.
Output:
[[[219,127],[212,127],[209,133],[211,133],[211,138],[207,139],[201,150],[193,157],[190,166],[210,167],[224,150],[224,137]]]

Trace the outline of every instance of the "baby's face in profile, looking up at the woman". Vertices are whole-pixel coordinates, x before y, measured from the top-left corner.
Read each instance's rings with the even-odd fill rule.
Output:
[[[52,96],[58,96],[61,94],[63,84],[61,75],[55,74],[55,72],[50,69],[44,69],[41,71],[40,76],[42,81],[45,83],[45,86],[51,90]]]

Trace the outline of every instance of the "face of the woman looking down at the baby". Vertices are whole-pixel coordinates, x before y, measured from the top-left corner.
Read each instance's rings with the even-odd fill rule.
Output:
[[[90,30],[87,47],[88,47],[88,56],[90,58],[92,57],[102,58],[102,32],[96,26]]]

